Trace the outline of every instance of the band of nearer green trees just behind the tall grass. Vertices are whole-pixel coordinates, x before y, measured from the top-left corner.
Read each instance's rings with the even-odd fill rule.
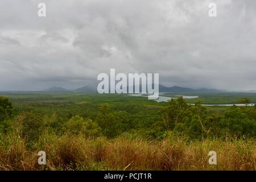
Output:
[[[133,108],[130,108],[131,110]],[[101,105],[93,117],[65,115],[40,112],[33,109],[20,110],[11,115],[11,102],[0,97],[1,133],[18,131],[28,141],[37,140],[46,131],[57,135],[82,134],[85,137],[107,137],[130,135],[146,139],[162,139],[166,134],[183,135],[189,139],[256,137],[256,107],[232,106],[221,112],[207,109],[197,102],[188,105],[180,97],[171,100],[169,106],[163,107],[155,122],[138,121],[127,110],[113,110],[108,104]],[[143,115],[142,115],[143,117]],[[145,118],[150,115],[145,116]]]

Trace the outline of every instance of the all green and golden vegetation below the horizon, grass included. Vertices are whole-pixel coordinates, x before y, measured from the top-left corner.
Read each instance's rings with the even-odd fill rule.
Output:
[[[255,170],[256,107],[125,94],[3,93],[3,170]],[[245,96],[240,96],[245,98]],[[236,97],[237,99],[237,97]],[[47,165],[37,164],[46,151]],[[217,152],[217,165],[208,152]]]

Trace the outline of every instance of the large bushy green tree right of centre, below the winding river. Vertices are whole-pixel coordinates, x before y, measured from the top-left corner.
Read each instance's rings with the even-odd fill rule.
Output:
[[[188,105],[180,97],[171,100],[169,106],[162,109],[160,121],[167,130],[182,133],[191,138],[209,137],[213,132],[218,131],[216,125],[219,121],[218,114],[207,110],[200,102],[195,105]]]

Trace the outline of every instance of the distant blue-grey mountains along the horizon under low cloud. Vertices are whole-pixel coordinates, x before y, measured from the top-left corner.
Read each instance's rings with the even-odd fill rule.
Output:
[[[141,88],[141,86],[140,86]],[[53,86],[51,88],[48,88],[46,90],[43,90],[44,92],[85,92],[85,93],[95,93],[97,92],[96,86],[84,86],[81,88],[68,90],[62,87]],[[217,89],[208,89],[208,88],[200,88],[200,89],[191,89],[191,88],[185,88],[180,86],[172,86],[167,87],[164,85],[159,85],[159,92],[226,92],[226,90],[217,90]]]

